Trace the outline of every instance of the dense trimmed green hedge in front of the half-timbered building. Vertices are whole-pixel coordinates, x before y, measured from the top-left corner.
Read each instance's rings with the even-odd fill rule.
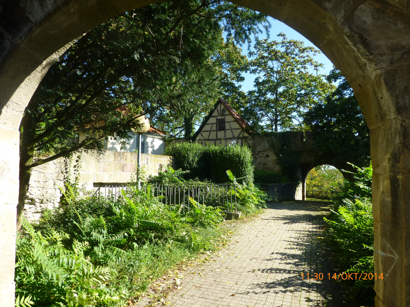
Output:
[[[230,170],[236,178],[245,177],[246,183],[253,183],[253,158],[248,147],[205,147],[184,142],[171,144],[165,152],[176,158],[178,167],[189,171],[185,178],[225,183],[229,181],[226,171]]]

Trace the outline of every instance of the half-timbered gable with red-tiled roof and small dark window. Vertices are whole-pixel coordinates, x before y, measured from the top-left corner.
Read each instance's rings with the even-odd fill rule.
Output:
[[[219,98],[213,110],[205,117],[193,139],[204,146],[242,146],[251,138],[251,126],[229,104]]]

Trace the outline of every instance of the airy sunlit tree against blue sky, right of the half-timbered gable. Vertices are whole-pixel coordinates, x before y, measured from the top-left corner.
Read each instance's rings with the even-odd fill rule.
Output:
[[[289,127],[331,88],[318,74],[323,65],[312,58],[319,50],[289,40],[283,33],[278,37],[281,41],[257,40],[255,51],[249,52],[249,70],[257,75],[256,90],[248,92],[249,104],[243,112],[259,131]]]

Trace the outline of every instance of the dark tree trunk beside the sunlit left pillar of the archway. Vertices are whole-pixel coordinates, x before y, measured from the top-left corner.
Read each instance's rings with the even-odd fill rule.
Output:
[[[29,112],[26,112],[20,126],[20,172],[17,204],[17,230],[21,228],[21,216],[29,188],[31,164],[33,163],[34,156],[34,145],[27,146],[27,144],[34,139],[36,134],[35,131],[34,119]]]

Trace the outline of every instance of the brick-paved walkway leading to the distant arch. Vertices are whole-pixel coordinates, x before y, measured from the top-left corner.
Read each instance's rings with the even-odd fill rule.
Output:
[[[227,223],[231,244],[180,273],[182,289],[167,300],[178,307],[347,306],[340,283],[328,280],[331,254],[318,238],[324,210],[312,201],[270,204],[252,221]],[[307,273],[323,280],[306,280]]]

